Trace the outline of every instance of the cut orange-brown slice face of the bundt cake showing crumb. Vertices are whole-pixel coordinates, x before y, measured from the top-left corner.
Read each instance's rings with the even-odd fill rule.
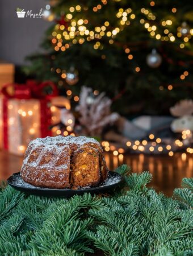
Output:
[[[82,146],[74,152],[70,183],[73,188],[95,186],[100,181],[99,153],[96,148]]]

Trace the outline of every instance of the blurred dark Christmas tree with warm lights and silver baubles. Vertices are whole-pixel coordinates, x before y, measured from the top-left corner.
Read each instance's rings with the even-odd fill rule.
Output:
[[[112,108],[165,114],[193,93],[191,1],[57,1],[28,74],[52,80],[78,101],[82,85],[106,92]],[[48,8],[49,9],[49,8]]]

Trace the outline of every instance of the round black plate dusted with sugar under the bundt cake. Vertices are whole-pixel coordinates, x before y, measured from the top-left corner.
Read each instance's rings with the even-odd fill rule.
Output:
[[[74,195],[82,195],[83,193],[99,194],[108,193],[113,191],[122,182],[121,175],[116,172],[109,172],[108,178],[104,183],[98,187],[85,187],[77,190],[73,189],[53,189],[53,188],[39,188],[26,183],[20,176],[20,172],[13,174],[7,180],[7,183],[24,193],[36,196],[49,196],[49,197],[71,197]]]

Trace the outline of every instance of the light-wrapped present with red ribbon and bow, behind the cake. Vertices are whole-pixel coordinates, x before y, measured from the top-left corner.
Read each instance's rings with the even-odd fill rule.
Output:
[[[14,94],[9,88],[14,86]],[[50,94],[45,93],[52,88]],[[0,143],[11,153],[23,155],[28,143],[37,137],[56,135],[50,127],[60,121],[60,109],[54,106],[58,90],[51,81],[37,84],[27,81],[26,85],[3,86],[0,98]],[[66,109],[70,102],[65,97],[58,97]]]

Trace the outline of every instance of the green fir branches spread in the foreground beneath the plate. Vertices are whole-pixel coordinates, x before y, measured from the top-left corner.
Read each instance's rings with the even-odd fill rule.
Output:
[[[125,186],[109,197],[48,199],[7,186],[0,192],[0,255],[192,255],[193,179],[168,198],[149,172],[116,169]]]

